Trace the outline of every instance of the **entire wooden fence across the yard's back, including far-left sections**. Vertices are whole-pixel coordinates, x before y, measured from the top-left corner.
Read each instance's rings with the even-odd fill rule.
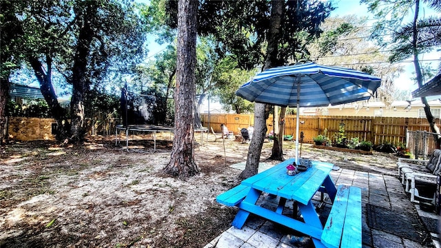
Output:
[[[209,118],[208,118],[209,117]],[[227,125],[229,131],[239,134],[241,128],[254,125],[253,114],[201,114],[204,127],[213,127],[215,132],[220,132],[220,124]],[[115,125],[121,123],[120,119],[105,118],[86,119],[85,130],[89,135],[114,135]],[[400,145],[407,143],[406,134],[413,131],[430,132],[426,118],[405,117],[360,117],[360,116],[300,116],[300,132],[305,138],[303,142],[313,143],[312,138],[324,134],[334,141],[340,123],[345,125],[345,134],[348,139],[358,137],[371,141],[374,145],[391,143]],[[436,119],[440,126],[440,119]],[[267,133],[273,130],[273,116],[267,119]],[[54,119],[10,117],[8,118],[8,134],[17,140],[31,141],[36,139],[54,139],[54,128],[57,124]],[[285,134],[296,138],[296,115],[287,115],[285,118]],[[408,137],[409,138],[409,137]],[[409,142],[409,145],[411,142]]]

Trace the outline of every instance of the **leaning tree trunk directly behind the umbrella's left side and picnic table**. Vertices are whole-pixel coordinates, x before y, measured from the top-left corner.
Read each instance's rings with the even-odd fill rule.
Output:
[[[285,1],[271,1],[271,19],[269,20],[270,30],[268,34],[267,58],[263,70],[281,65],[278,59],[278,41],[280,40],[280,23],[282,23],[283,8]],[[258,173],[260,152],[267,133],[267,107],[262,103],[254,105],[254,133],[249,143],[247,163],[245,169],[240,173],[240,178],[249,178]]]

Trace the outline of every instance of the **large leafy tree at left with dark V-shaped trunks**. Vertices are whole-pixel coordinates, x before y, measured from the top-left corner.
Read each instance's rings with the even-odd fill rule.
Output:
[[[3,3],[3,2],[2,2]],[[103,90],[115,74],[127,74],[143,57],[145,30],[133,1],[11,1],[18,32],[18,53],[37,77],[59,130],[81,141],[88,92]],[[18,8],[20,6],[20,8]],[[2,30],[3,34],[3,30]],[[72,84],[72,128],[57,101],[52,75]]]

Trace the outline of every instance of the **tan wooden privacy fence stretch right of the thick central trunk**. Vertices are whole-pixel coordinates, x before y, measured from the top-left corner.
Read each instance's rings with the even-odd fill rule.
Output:
[[[215,132],[220,132],[220,124],[225,124],[228,130],[235,134],[243,127],[254,125],[253,114],[201,114],[204,127],[213,127]],[[374,145],[391,143],[399,145],[406,143],[406,132],[430,131],[426,118],[407,117],[371,117],[371,116],[300,116],[299,130],[305,138],[303,142],[313,143],[312,138],[318,134],[325,134],[334,141],[340,123],[344,124],[347,139],[360,138],[371,141]],[[440,125],[440,119],[436,119]],[[273,129],[273,116],[267,119],[267,133]],[[325,131],[326,130],[326,131]],[[296,115],[285,116],[285,135],[293,135],[296,138]]]

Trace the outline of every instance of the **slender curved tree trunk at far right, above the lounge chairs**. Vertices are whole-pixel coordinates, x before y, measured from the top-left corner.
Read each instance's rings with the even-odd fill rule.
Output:
[[[418,12],[420,10],[420,1],[415,1],[415,14],[413,16],[413,23],[412,23],[412,48],[413,48],[413,65],[415,67],[415,73],[416,73],[416,80],[418,83],[418,87],[422,87],[422,73],[420,68],[420,61],[418,60]],[[432,132],[436,134],[440,134],[440,128],[435,123],[435,118],[433,118],[433,114],[430,110],[429,103],[427,103],[427,99],[425,97],[421,98],[421,102],[424,105],[424,113],[426,114],[427,121],[429,122],[430,129]],[[435,135],[435,141],[436,141],[436,147],[440,148],[441,144],[441,136]]]

